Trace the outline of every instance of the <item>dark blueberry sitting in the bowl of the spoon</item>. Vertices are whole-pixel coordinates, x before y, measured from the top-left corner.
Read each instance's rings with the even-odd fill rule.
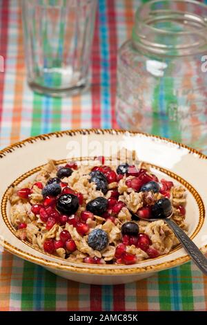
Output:
[[[168,198],[161,198],[152,205],[152,218],[166,219],[172,214],[172,204]]]

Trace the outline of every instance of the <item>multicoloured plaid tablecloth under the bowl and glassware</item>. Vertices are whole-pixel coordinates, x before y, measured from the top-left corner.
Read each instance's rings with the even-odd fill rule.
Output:
[[[20,3],[0,1],[0,55],[5,63],[0,72],[1,147],[50,131],[116,127],[117,48],[130,37],[139,3],[99,0],[92,87],[84,95],[58,99],[28,88]],[[207,277],[187,263],[137,283],[89,286],[2,252],[0,310],[207,310]]]

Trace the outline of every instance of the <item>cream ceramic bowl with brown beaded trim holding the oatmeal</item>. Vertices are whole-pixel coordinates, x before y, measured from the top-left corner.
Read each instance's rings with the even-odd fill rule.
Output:
[[[148,259],[132,266],[72,263],[37,250],[14,235],[7,197],[7,189],[11,184],[17,185],[34,177],[48,158],[79,160],[83,157],[108,156],[110,151],[121,148],[135,150],[138,158],[149,163],[157,176],[164,176],[186,187],[188,234],[206,252],[207,157],[194,149],[157,136],[101,129],[50,133],[28,138],[0,151],[0,238],[3,248],[56,275],[87,284],[126,284],[189,261],[190,257],[179,245],[157,259]]]

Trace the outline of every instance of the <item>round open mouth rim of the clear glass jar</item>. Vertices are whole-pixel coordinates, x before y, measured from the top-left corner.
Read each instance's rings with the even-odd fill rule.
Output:
[[[206,3],[202,3],[199,2],[197,0],[150,0],[146,3],[142,3],[139,8],[136,10],[135,12],[135,22],[139,21],[141,23],[142,26],[146,26],[148,29],[151,29],[152,31],[155,32],[160,32],[161,34],[179,34],[179,35],[189,35],[190,31],[188,30],[184,30],[184,31],[178,31],[178,32],[174,32],[174,31],[170,31],[170,30],[163,30],[160,28],[156,28],[154,26],[150,26],[149,24],[145,23],[144,20],[142,19],[142,17],[140,16],[140,12],[141,10],[143,10],[144,8],[146,8],[149,5],[152,4],[156,4],[156,3],[161,3],[161,2],[166,2],[166,3],[172,3],[172,2],[180,2],[180,3],[192,3],[195,4],[201,8],[205,8],[207,10],[207,5]],[[202,32],[203,30],[207,30],[207,16],[206,16],[206,26],[204,28],[199,29],[199,32]]]

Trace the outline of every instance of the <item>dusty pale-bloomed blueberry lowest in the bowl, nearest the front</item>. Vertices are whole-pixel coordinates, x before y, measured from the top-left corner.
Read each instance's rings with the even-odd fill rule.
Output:
[[[88,246],[93,250],[103,250],[108,245],[108,234],[102,229],[95,229],[88,235]]]

